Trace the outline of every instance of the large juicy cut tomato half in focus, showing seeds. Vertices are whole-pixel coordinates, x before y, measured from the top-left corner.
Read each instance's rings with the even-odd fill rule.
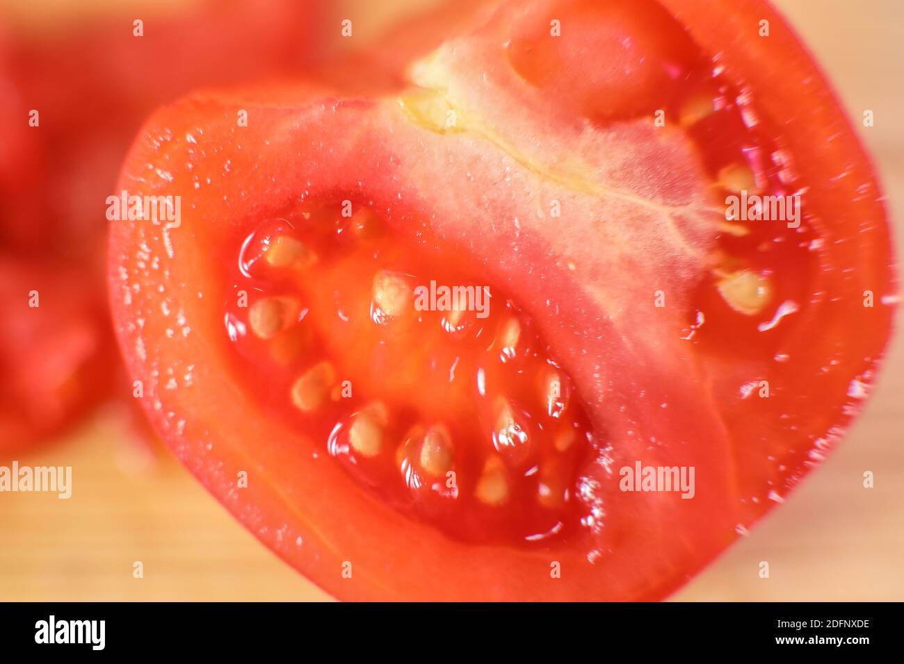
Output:
[[[507,3],[391,92],[165,107],[119,188],[181,201],[110,230],[146,413],[340,598],[662,598],[890,333],[871,164],[760,2]]]

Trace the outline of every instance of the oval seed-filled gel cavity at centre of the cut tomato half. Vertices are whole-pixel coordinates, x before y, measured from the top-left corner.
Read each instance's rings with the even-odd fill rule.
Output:
[[[455,256],[341,209],[235,243],[224,323],[241,379],[383,500],[454,537],[530,546],[574,530],[592,435],[530,317]]]

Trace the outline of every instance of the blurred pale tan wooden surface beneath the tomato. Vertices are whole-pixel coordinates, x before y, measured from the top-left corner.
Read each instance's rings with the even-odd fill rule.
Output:
[[[904,5],[777,3],[835,81],[904,220]],[[793,103],[793,100],[789,100]],[[679,600],[904,599],[904,344],[865,412],[781,509],[686,585]],[[127,440],[109,412],[20,458],[73,466],[71,500],[0,494],[0,600],[325,600],[231,519],[168,455]],[[862,488],[862,472],[876,486]],[[771,575],[758,578],[758,563]],[[144,564],[144,578],[132,575]]]

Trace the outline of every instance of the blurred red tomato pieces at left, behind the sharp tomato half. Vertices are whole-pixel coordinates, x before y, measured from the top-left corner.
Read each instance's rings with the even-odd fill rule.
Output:
[[[104,214],[138,127],[199,85],[304,70],[318,44],[298,40],[297,26],[316,23],[322,9],[315,1],[228,0],[153,14],[140,36],[121,15],[0,31],[0,269],[14,274],[2,285],[0,354],[5,376],[31,374],[29,383],[5,385],[4,449],[57,433],[121,388],[102,267]],[[29,304],[33,290],[48,307],[65,294],[65,312],[38,311]],[[78,351],[73,327],[84,341]],[[56,359],[45,353],[52,345],[61,349]],[[34,358],[52,369],[32,371]],[[48,402],[61,381],[78,398]],[[52,416],[34,416],[45,407]]]

